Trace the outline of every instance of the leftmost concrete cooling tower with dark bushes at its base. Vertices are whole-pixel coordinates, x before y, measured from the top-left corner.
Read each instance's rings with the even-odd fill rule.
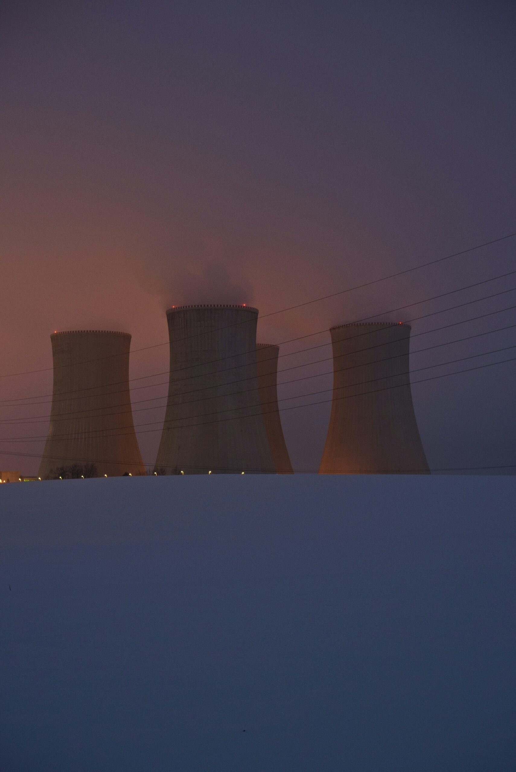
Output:
[[[39,476],[94,464],[97,476],[144,474],[129,396],[131,335],[107,330],[54,333],[49,434]]]

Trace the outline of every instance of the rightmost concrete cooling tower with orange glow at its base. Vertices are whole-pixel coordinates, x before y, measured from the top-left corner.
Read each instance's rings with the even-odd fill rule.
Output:
[[[320,474],[429,474],[412,406],[409,324],[332,327],[333,400]]]

